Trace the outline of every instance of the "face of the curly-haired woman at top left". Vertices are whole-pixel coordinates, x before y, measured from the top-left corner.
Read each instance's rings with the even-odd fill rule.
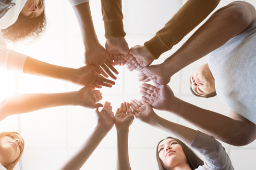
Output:
[[[43,0],[27,0],[20,14],[29,18],[35,18],[41,15],[43,11]]]

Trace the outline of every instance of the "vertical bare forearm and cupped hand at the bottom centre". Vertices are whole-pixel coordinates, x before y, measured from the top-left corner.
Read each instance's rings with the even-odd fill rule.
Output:
[[[134,121],[134,114],[129,102],[123,102],[117,109],[115,117],[117,130],[117,165],[116,170],[130,170],[128,153],[128,134],[129,126]]]

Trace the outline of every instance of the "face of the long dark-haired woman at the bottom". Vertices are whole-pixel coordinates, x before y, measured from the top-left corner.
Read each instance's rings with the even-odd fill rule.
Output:
[[[187,164],[186,155],[180,144],[172,138],[163,140],[158,145],[159,158],[166,169]]]

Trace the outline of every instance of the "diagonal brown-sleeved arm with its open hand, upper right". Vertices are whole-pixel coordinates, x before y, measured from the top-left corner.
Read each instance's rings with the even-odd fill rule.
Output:
[[[130,71],[149,66],[161,54],[171,50],[183,37],[201,23],[219,4],[220,0],[188,0],[182,8],[143,46],[129,51],[126,61]]]

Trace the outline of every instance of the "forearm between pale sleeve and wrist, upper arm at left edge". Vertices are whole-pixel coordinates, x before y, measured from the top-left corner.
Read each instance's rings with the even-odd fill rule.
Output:
[[[52,65],[31,57],[27,57],[24,63],[23,71],[25,74],[61,79],[71,82],[75,69]]]

